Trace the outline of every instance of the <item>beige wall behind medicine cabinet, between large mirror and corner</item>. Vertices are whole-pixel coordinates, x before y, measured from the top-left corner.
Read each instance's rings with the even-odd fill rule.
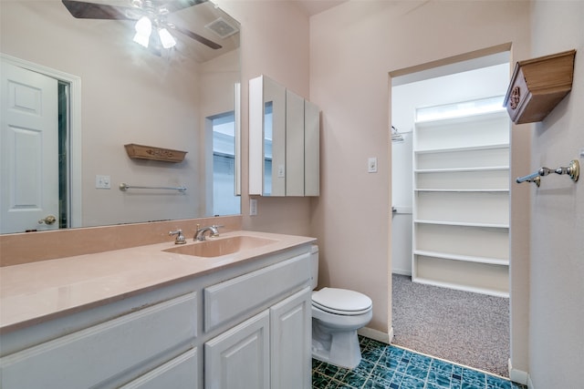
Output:
[[[219,0],[242,24],[242,213],[247,230],[313,236],[309,198],[257,197],[257,216],[249,216],[247,196],[248,81],[266,75],[302,97],[309,97],[308,16],[290,2]]]

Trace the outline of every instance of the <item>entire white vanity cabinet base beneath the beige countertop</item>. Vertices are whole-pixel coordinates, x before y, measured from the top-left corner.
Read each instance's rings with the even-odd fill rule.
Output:
[[[0,387],[308,389],[309,247],[2,333]]]

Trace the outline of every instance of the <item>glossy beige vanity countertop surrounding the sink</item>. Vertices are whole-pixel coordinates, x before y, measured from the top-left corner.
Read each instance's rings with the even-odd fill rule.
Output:
[[[203,258],[163,251],[178,246],[168,241],[0,268],[0,332],[114,302],[316,241],[308,237],[245,230],[225,232],[214,240],[238,235],[274,242],[234,254]],[[199,243],[189,240],[187,244]]]

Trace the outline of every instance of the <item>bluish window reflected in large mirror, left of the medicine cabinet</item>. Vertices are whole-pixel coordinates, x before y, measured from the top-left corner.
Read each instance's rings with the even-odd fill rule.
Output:
[[[235,195],[235,113],[211,118],[213,126],[213,214],[241,213]]]

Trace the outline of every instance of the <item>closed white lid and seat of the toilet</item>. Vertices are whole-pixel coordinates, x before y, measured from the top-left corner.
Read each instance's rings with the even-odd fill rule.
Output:
[[[365,294],[338,288],[322,288],[312,293],[312,303],[323,311],[345,315],[368,312],[372,305]]]

